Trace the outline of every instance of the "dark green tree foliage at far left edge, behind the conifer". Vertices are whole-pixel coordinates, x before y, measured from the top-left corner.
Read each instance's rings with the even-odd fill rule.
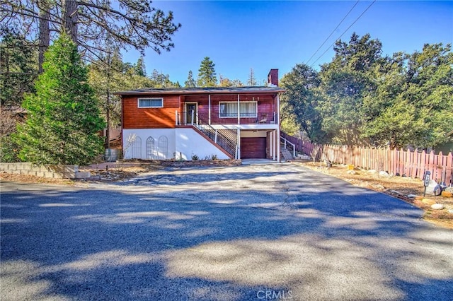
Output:
[[[0,28],[0,105],[21,105],[24,93],[33,92],[38,76],[36,47],[17,30]]]

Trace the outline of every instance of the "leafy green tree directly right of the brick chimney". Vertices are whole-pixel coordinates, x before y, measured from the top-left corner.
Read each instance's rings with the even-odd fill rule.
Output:
[[[297,124],[314,143],[326,142],[316,90],[319,84],[318,73],[305,64],[294,66],[280,81],[282,88],[286,89],[281,97],[282,120],[286,120],[287,126]]]

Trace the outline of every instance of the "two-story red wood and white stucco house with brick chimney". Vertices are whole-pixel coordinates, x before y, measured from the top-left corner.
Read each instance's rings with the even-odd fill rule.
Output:
[[[280,161],[278,70],[268,86],[144,88],[122,98],[126,159],[268,158]]]

